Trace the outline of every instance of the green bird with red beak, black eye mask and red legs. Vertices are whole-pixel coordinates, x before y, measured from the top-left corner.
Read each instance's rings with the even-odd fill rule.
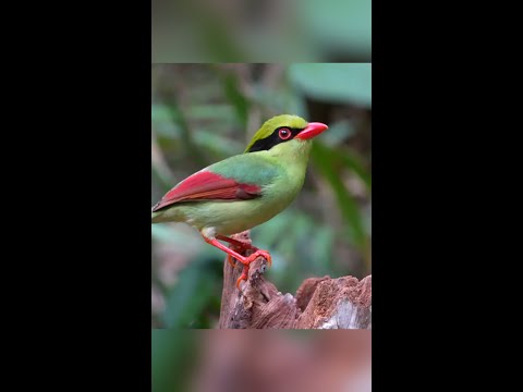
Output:
[[[312,139],[326,131],[320,122],[280,114],[267,120],[245,151],[208,166],[179,182],[151,209],[151,223],[185,222],[208,244],[243,265],[236,281],[247,280],[248,267],[259,256],[271,256],[251,243],[230,236],[257,226],[283,211],[300,193]],[[229,243],[242,256],[220,241]]]

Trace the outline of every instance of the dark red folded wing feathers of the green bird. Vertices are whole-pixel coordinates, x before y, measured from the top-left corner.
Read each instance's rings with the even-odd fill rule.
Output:
[[[153,207],[153,212],[180,201],[246,200],[260,196],[257,185],[242,184],[208,171],[197,172],[171,191]]]

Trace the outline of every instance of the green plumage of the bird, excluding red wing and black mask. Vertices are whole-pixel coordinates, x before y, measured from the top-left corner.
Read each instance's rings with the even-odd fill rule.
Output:
[[[307,122],[283,114],[268,120],[254,135],[246,151],[278,127],[305,128]],[[254,228],[285,209],[303,186],[311,139],[293,138],[268,150],[233,156],[205,170],[238,183],[262,188],[259,197],[247,200],[198,200],[173,204],[153,212],[153,222],[186,222],[205,236],[231,235]]]

